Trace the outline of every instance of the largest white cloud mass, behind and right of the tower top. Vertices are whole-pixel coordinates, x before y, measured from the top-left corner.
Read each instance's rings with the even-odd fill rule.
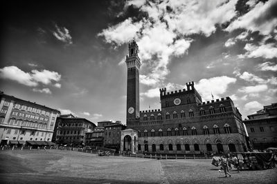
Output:
[[[126,19],[102,30],[98,36],[107,43],[122,45],[136,39],[141,61],[151,71],[142,80],[147,85],[163,83],[169,74],[168,63],[172,56],[186,54],[192,34],[210,36],[216,24],[235,17],[235,3],[231,1],[127,1],[126,6],[136,6],[148,16],[140,21],[135,17]],[[170,9],[170,10],[169,10]],[[147,18],[147,19],[146,19]],[[135,20],[135,21],[134,21]],[[123,61],[120,61],[122,64]],[[145,64],[143,65],[145,66]]]

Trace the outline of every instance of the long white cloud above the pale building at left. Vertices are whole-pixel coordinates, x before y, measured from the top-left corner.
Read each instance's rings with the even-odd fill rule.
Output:
[[[60,81],[61,75],[57,72],[49,70],[32,70],[31,72],[24,72],[17,66],[6,66],[0,68],[0,78],[17,81],[27,86],[37,86],[39,83],[50,85],[52,81]],[[56,83],[55,87],[59,88],[60,84]]]

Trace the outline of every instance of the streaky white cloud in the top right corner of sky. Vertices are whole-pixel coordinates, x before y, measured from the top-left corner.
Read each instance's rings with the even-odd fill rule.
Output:
[[[275,0],[269,0],[265,4],[260,1],[247,14],[233,21],[226,31],[231,32],[238,28],[244,28],[252,32],[260,31],[264,35],[270,34],[277,25],[277,18],[269,15],[269,12],[274,11],[271,8],[276,7],[276,3]]]

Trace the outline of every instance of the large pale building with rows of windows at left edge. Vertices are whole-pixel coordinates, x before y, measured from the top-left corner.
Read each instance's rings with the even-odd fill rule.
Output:
[[[1,145],[47,145],[58,110],[0,93]],[[46,141],[46,142],[45,142]]]

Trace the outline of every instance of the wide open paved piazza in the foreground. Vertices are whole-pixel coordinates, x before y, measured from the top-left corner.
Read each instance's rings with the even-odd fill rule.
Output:
[[[211,159],[156,160],[66,150],[0,152],[1,183],[277,183],[276,168],[232,171],[224,178]]]

